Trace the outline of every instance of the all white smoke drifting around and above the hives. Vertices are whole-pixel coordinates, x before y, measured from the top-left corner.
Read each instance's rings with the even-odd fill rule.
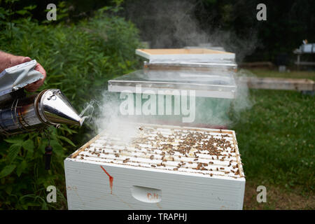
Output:
[[[230,52],[235,52],[238,62],[241,62],[246,55],[255,50],[255,47],[258,45],[255,30],[252,30],[247,38],[239,38],[234,31],[212,29],[210,24],[202,25],[203,28],[207,27],[207,29],[203,29],[194,15],[195,4],[196,2],[188,0],[132,1],[132,3],[125,6],[125,10],[127,18],[135,22],[140,30],[146,31],[146,34],[143,34],[143,36],[147,39],[144,41],[150,42],[151,48],[183,48],[211,43],[212,45],[221,46]],[[166,73],[163,74],[163,76],[166,75]],[[231,125],[232,120],[235,119],[230,119],[226,116],[226,113],[228,113],[226,111],[227,108],[232,110],[232,116],[236,120],[240,118],[241,111],[251,108],[253,102],[251,102],[248,87],[246,83],[239,82],[240,77],[248,75],[252,76],[252,74],[248,74],[244,70],[233,73],[237,82],[235,99],[228,102],[228,105],[224,100],[218,101],[216,113],[212,113],[211,110],[206,111],[208,114],[204,118],[204,123]],[[99,102],[98,116],[93,118],[97,132],[109,130],[115,134],[124,134],[126,139],[133,136],[134,127],[125,125],[123,130],[121,128],[120,123],[123,121],[123,117],[120,116],[120,103],[121,100],[117,94],[107,90],[103,92],[102,101]],[[202,108],[202,104],[202,100],[197,102],[196,113],[198,113],[199,106]],[[142,120],[143,118],[140,116],[137,121],[141,123]],[[128,121],[127,116],[124,121]]]

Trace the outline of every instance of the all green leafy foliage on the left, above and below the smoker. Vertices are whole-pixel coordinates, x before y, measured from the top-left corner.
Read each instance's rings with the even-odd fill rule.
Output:
[[[32,8],[15,13],[27,15],[24,10]],[[39,24],[29,17],[10,21],[9,13],[0,7],[0,49],[36,59],[47,72],[40,90],[59,88],[78,111],[85,103],[97,99],[109,78],[139,66],[139,60],[134,57],[134,50],[139,46],[138,31],[123,18],[99,12],[76,25]],[[48,145],[43,133],[3,137],[0,141],[0,208],[65,209],[63,160],[83,143],[84,130],[87,127],[51,127],[50,171],[46,171],[43,164]],[[45,200],[45,189],[50,185],[57,187],[57,204],[48,204]]]

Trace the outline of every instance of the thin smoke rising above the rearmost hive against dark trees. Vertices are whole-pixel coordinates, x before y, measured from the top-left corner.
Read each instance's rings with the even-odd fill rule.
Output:
[[[195,16],[197,4],[200,1],[132,1],[127,3],[125,10],[127,18],[139,27],[151,48],[184,48],[210,43],[235,52],[237,62],[241,62],[260,45],[255,29],[248,31],[246,36],[238,36],[235,31],[214,28],[221,25],[210,22],[201,25]],[[211,21],[212,15],[208,16]]]

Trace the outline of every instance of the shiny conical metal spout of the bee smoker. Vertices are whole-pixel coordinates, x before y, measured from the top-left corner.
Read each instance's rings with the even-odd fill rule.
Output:
[[[76,109],[60,90],[43,90],[35,100],[35,108],[43,123],[48,125],[82,125]]]

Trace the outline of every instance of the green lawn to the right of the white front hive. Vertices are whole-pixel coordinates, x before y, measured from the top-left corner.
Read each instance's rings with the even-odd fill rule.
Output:
[[[246,180],[314,191],[315,98],[293,91],[251,90],[254,105],[234,118]]]

